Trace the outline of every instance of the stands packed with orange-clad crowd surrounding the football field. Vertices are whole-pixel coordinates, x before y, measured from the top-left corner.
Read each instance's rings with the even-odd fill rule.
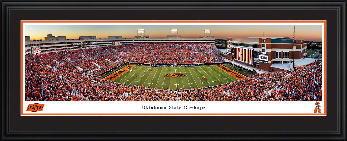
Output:
[[[100,78],[129,62],[195,64],[224,62],[206,42],[140,42],[59,50],[25,57],[26,101],[320,101],[322,61],[279,72],[255,74],[215,88],[150,89]],[[67,93],[75,91],[78,95]],[[179,92],[178,92],[179,91]],[[124,93],[128,95],[125,96]]]

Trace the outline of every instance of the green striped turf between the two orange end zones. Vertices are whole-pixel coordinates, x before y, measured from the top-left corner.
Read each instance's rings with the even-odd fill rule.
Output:
[[[181,76],[170,77],[181,73]],[[185,75],[184,75],[185,74]],[[175,74],[177,76],[179,74]],[[182,75],[184,75],[182,77]],[[136,76],[136,77],[135,77]],[[206,79],[207,78],[207,79]],[[158,89],[191,89],[209,87],[237,81],[235,77],[216,66],[201,67],[147,67],[135,66],[113,82],[126,85],[142,85]]]

